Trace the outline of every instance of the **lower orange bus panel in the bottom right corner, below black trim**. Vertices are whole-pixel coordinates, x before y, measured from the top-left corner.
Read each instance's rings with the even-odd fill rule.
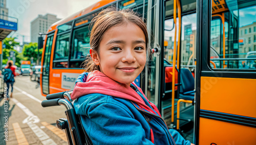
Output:
[[[256,144],[256,128],[200,118],[199,144]]]

